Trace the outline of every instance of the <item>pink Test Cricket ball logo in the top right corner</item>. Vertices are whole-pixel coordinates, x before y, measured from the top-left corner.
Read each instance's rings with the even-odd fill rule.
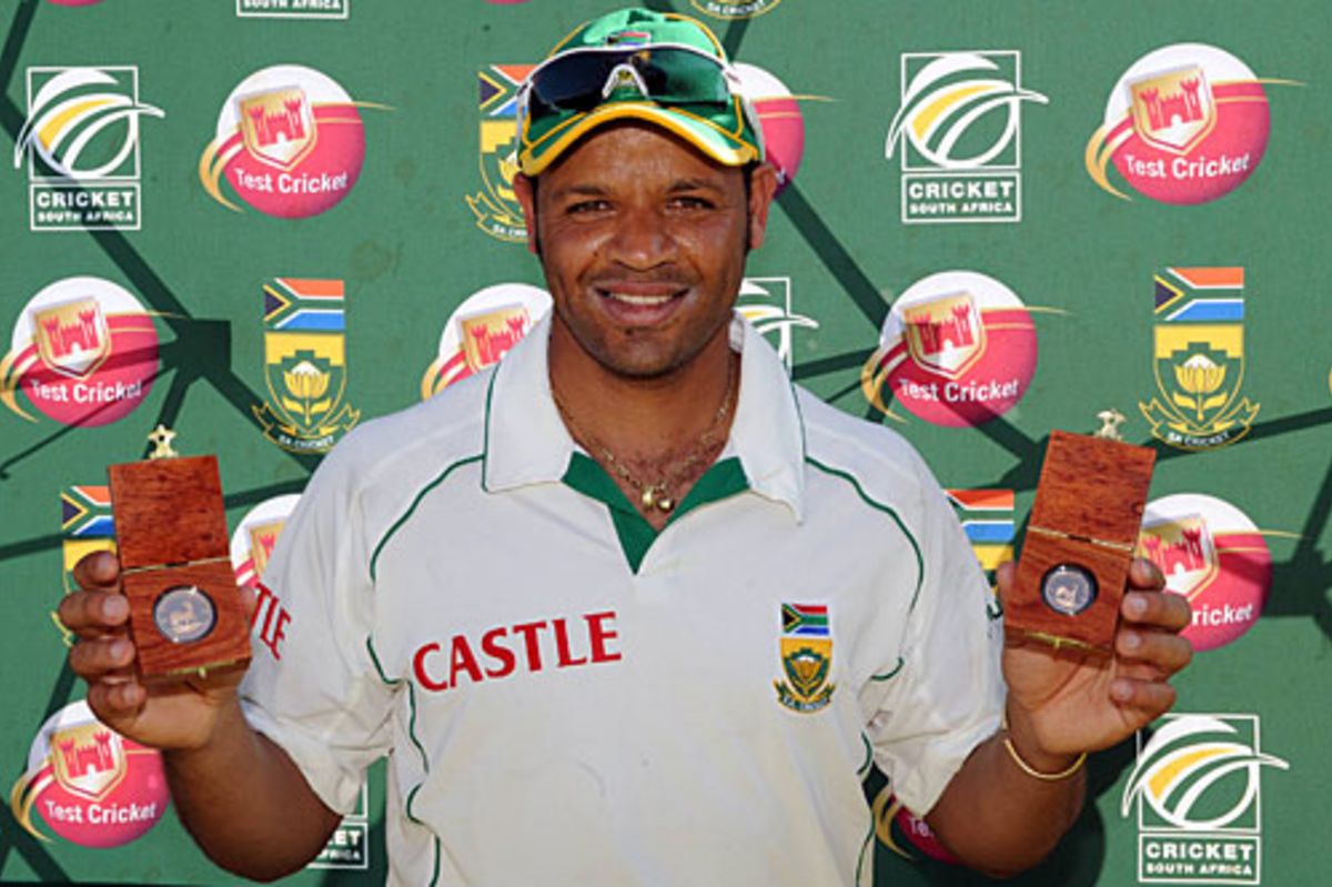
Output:
[[[1115,194],[1107,168],[1166,204],[1205,204],[1239,188],[1263,161],[1269,129],[1263,81],[1231,53],[1200,43],[1163,47],[1115,84],[1087,144],[1087,172]]]

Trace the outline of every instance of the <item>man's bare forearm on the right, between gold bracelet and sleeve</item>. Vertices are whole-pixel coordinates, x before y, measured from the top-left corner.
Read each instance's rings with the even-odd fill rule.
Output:
[[[1006,738],[1038,772],[1059,774],[1076,763],[1071,755],[1039,752],[1015,725],[1015,733],[1000,731],[971,752],[926,816],[955,856],[999,876],[1044,859],[1078,818],[1087,791],[1083,768],[1063,779],[1024,772],[1004,747]]]

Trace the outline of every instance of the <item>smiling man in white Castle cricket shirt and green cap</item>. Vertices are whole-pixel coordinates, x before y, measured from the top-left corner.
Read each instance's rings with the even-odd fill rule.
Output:
[[[240,690],[140,686],[115,559],[80,563],[89,705],[254,878],[309,860],[382,755],[393,883],[864,882],[871,759],[968,863],[1040,859],[1084,752],[1169,707],[1184,601],[1139,562],[1108,666],[1010,646],[1000,673],[919,457],[733,316],[777,181],[701,24],[579,28],[521,139],[553,318],[325,459],[265,577],[281,658]]]

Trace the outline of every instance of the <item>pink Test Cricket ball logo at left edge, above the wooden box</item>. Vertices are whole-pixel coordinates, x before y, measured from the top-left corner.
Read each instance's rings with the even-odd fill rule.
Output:
[[[108,425],[143,404],[157,372],[157,329],[139,300],[99,277],[67,277],[20,312],[0,358],[0,404],[35,421],[23,392],[63,425]]]

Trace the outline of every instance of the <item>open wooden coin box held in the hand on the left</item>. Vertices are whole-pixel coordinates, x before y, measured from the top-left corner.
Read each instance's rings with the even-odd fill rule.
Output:
[[[140,678],[205,678],[248,665],[217,458],[128,462],[107,475]]]

